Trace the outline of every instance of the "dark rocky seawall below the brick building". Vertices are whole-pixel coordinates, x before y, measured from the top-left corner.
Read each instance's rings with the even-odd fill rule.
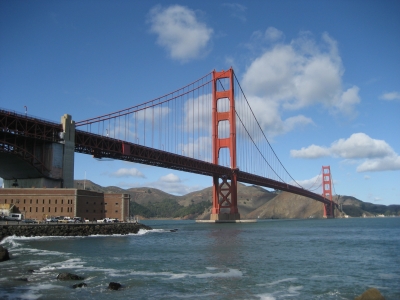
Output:
[[[0,241],[7,236],[88,236],[138,233],[152,228],[138,223],[2,225]]]

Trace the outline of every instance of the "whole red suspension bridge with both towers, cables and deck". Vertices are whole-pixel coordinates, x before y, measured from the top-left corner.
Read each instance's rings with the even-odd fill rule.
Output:
[[[49,145],[53,145],[51,152]],[[61,151],[58,145],[63,147],[60,168],[54,163]],[[165,96],[76,123],[69,115],[63,116],[62,124],[55,124],[0,110],[0,162],[4,165],[10,155],[17,156],[32,166],[30,176],[40,174],[68,186],[73,182],[73,177],[67,177],[71,168],[73,174],[74,151],[211,176],[212,220],[240,219],[237,182],[312,198],[323,203],[325,217],[334,217],[330,168],[322,167],[322,195],[292,178],[232,69],[213,71]],[[12,180],[17,175],[0,170],[0,177]]]

